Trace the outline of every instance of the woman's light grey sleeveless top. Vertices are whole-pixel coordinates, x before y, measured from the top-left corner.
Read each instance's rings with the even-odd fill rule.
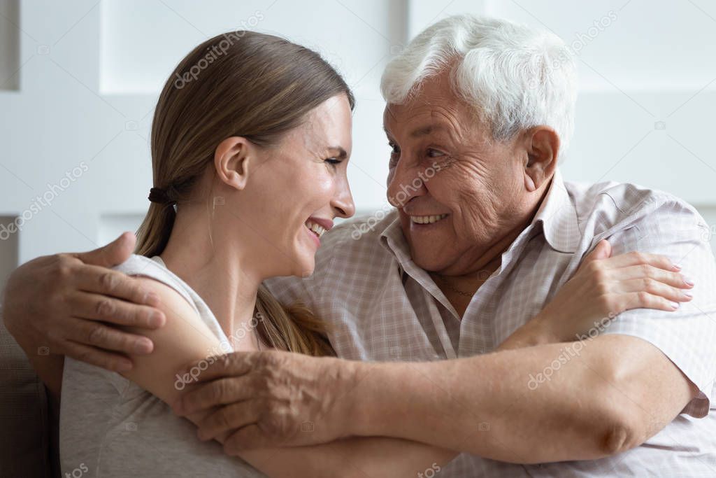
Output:
[[[115,269],[151,277],[179,292],[221,340],[221,350],[232,350],[205,302],[162,259],[132,255]],[[264,476],[243,460],[224,455],[216,441],[200,441],[194,424],[175,416],[167,404],[140,386],[69,357],[64,359],[60,407],[63,476]]]

